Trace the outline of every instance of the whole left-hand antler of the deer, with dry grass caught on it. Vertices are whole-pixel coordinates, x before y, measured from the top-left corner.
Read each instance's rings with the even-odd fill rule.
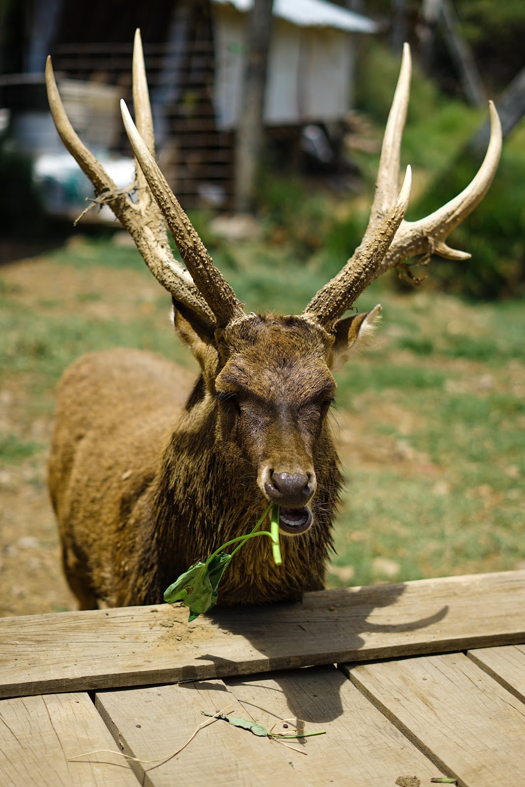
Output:
[[[177,301],[187,305],[192,311],[220,327],[224,327],[235,317],[242,316],[244,312],[234,291],[213,265],[197,231],[173,197],[168,184],[158,171],[157,164],[154,163],[153,121],[140,31],[135,32],[133,48],[133,104],[139,131],[132,124],[131,119],[130,122],[135,128],[135,134],[140,139],[140,158],[144,160],[145,157],[149,157],[153,161],[154,168],[157,168],[157,173],[160,176],[157,180],[161,183],[162,193],[171,195],[171,199],[166,196],[158,198],[161,206],[168,203],[172,205],[173,201],[176,204],[176,209],[173,209],[172,206],[169,211],[168,224],[188,270],[183,268],[172,255],[165,223],[157,202],[153,199],[147,177],[142,172],[142,164],[137,166],[135,162],[139,193],[139,201],[135,204],[128,194],[123,194],[122,190],[117,189],[102,164],[97,161],[90,150],[87,150],[87,147],[76,135],[58,94],[50,57],[47,58],[46,63],[46,86],[51,115],[62,142],[93,183],[98,201],[111,204],[116,218],[128,230],[157,281]],[[146,142],[143,142],[142,139],[145,139]],[[137,158],[139,159],[139,156]],[[153,193],[157,196],[157,192],[156,183]],[[165,208],[162,207],[162,210],[164,212]]]

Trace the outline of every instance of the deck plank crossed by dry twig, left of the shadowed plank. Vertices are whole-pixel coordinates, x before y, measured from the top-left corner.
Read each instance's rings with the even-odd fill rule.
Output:
[[[128,689],[96,695],[96,707],[124,752],[139,759],[175,752],[206,717],[222,711],[242,717],[242,707],[222,681]],[[194,740],[166,763],[131,763],[151,787],[304,787],[306,782],[268,738],[256,737],[222,720],[199,730]],[[157,766],[157,767],[155,767]],[[145,775],[146,774],[146,775]]]

